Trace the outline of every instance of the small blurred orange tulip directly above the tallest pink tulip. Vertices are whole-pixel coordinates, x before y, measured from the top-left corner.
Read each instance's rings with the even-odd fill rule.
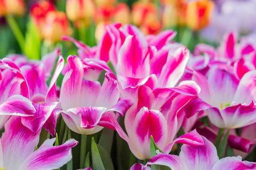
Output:
[[[130,23],[130,9],[127,4],[119,3],[114,9],[113,22],[128,24]]]

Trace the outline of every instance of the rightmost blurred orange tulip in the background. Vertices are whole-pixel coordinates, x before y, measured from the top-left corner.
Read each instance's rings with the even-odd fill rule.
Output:
[[[189,2],[186,8],[186,24],[198,31],[209,23],[214,3],[211,0]]]

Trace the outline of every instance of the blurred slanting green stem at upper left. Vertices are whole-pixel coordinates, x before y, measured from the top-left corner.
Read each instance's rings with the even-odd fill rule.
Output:
[[[24,47],[25,47],[25,39],[24,36],[20,30],[20,27],[18,26],[16,20],[13,18],[12,15],[8,14],[6,15],[6,20],[11,28],[11,31],[13,32],[22,53],[24,53]]]

